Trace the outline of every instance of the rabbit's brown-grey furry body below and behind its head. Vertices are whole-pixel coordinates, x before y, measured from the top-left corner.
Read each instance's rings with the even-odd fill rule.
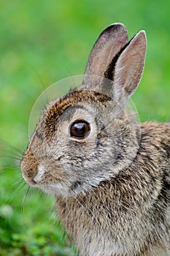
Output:
[[[169,138],[169,124],[142,124],[127,169],[85,195],[57,197],[59,217],[82,255],[169,255]]]

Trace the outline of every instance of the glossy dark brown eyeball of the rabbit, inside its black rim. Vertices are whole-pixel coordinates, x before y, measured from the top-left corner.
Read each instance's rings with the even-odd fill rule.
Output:
[[[72,124],[71,136],[75,138],[84,138],[90,131],[90,127],[87,123],[79,122]]]

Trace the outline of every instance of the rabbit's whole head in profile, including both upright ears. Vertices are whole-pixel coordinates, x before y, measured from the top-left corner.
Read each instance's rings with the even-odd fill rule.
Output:
[[[69,197],[129,165],[139,127],[125,105],[142,77],[146,47],[144,31],[128,41],[120,23],[101,33],[80,87],[42,110],[21,162],[28,184]]]

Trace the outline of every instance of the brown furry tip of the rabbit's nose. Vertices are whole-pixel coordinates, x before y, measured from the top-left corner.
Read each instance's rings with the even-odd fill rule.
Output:
[[[34,176],[36,176],[38,166],[39,162],[34,157],[32,151],[26,151],[26,154],[23,156],[23,159],[20,163],[20,168],[22,170],[23,177],[26,179],[26,181],[33,181]]]

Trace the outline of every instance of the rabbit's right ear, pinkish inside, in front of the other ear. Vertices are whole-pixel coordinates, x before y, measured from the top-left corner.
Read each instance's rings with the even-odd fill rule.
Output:
[[[133,94],[142,78],[147,39],[144,31],[139,31],[117,58],[114,69],[114,88],[123,88],[128,97]]]

